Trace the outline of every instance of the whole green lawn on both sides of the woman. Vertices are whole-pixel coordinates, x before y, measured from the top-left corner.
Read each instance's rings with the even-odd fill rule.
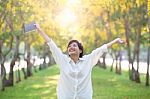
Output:
[[[34,73],[14,87],[0,92],[0,99],[56,99],[56,85],[59,76],[57,66]],[[150,99],[150,87],[128,79],[128,74],[116,75],[109,70],[95,67],[92,73],[93,99]]]

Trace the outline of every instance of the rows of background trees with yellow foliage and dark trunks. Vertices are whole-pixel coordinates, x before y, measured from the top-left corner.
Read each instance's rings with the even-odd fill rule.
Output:
[[[33,58],[53,60],[44,40],[36,31],[24,34],[23,24],[36,21],[66,51],[70,39],[80,40],[85,54],[115,37],[124,38],[127,46],[114,45],[110,50],[113,60],[121,61],[121,52],[127,52],[129,78],[140,82],[140,52],[149,52],[147,2],[145,0],[1,0],[0,1],[0,66],[2,84],[13,85],[13,69],[17,61],[25,60],[24,77],[33,73]],[[103,56],[103,68],[106,68]],[[147,54],[147,84],[149,81],[149,54]],[[5,63],[10,62],[9,77]],[[134,67],[134,62],[137,62]],[[50,61],[49,61],[50,63]],[[51,63],[54,63],[52,61]],[[51,64],[50,63],[50,64]],[[46,66],[46,65],[43,65]],[[113,66],[113,65],[112,65]],[[40,67],[44,68],[44,67]],[[113,69],[113,68],[112,68]],[[121,74],[121,64],[116,64]],[[4,87],[2,88],[4,89]]]

